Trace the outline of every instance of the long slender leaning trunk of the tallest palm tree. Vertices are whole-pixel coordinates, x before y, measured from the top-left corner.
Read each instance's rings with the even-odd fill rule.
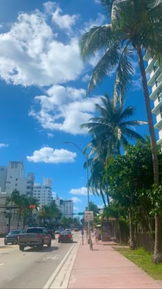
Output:
[[[146,111],[148,116],[148,129],[150,132],[150,141],[152,147],[152,162],[153,162],[153,169],[154,169],[154,186],[159,186],[159,165],[158,165],[158,158],[157,158],[157,141],[155,138],[154,133],[154,123],[152,118],[152,111],[150,105],[150,97],[148,92],[148,84],[146,78],[146,72],[143,62],[143,55],[141,52],[141,46],[137,45],[137,55],[139,59],[139,69],[141,72],[141,81],[143,85],[143,94],[146,103]],[[155,244],[154,244],[154,256],[153,261],[155,263],[159,263],[162,261],[162,228],[161,228],[161,217],[155,215]]]

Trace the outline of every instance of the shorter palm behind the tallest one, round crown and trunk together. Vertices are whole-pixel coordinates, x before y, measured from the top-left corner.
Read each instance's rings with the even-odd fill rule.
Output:
[[[134,109],[132,107],[124,109],[124,98],[119,97],[118,100],[116,98],[116,101],[113,101],[105,95],[101,100],[102,106],[95,105],[99,116],[91,118],[81,127],[88,127],[89,134],[93,137],[85,148],[85,150],[90,149],[89,156],[92,156],[89,159],[91,168],[89,186],[94,194],[101,195],[106,206],[105,195],[109,205],[108,186],[104,180],[106,160],[109,156],[120,153],[121,148],[125,149],[128,140],[142,139],[144,141],[142,136],[131,128],[146,124],[146,122],[128,120],[133,115]]]

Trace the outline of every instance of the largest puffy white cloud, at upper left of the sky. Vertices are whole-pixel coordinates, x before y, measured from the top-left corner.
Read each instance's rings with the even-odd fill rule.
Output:
[[[51,3],[46,4],[47,10]],[[12,47],[12,50],[10,49]],[[58,40],[46,14],[21,12],[9,32],[0,34],[0,76],[14,85],[53,85],[75,81],[83,70],[78,39]]]

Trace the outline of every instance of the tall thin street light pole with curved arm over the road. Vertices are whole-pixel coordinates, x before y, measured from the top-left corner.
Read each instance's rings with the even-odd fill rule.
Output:
[[[89,211],[89,156],[87,153],[84,153],[80,147],[78,147],[78,144],[75,144],[75,142],[64,142],[66,144],[73,144],[86,158],[86,188],[87,188],[87,199],[88,199],[88,211]],[[89,232],[89,248],[91,250],[91,228],[90,228],[90,222],[88,221],[88,232]]]

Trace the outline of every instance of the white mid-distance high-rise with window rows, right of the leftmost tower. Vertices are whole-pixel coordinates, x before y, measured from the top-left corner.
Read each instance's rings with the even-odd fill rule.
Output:
[[[44,178],[43,185],[34,184],[34,197],[36,197],[40,206],[49,205],[53,200],[51,186],[52,186],[51,178],[47,179]]]

